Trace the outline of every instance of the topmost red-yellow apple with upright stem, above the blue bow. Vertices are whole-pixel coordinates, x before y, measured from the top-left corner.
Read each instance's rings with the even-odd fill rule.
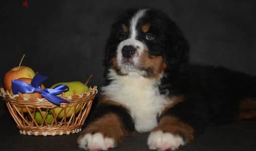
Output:
[[[36,74],[32,68],[30,68],[28,66],[21,66],[24,56],[25,55],[23,55],[19,66],[13,67],[5,74],[4,86],[5,86],[6,90],[8,90],[9,92],[11,91],[11,88],[12,88],[12,80],[19,79],[19,78],[31,78],[32,79]]]

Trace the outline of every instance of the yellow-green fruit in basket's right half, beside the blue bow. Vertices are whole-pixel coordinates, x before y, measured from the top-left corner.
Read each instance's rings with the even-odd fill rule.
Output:
[[[80,95],[84,92],[87,92],[87,93],[89,92],[88,86],[84,85],[83,83],[78,82],[78,81],[57,83],[57,84],[51,86],[51,89],[53,89],[57,85],[67,85],[68,86],[69,90],[67,92],[65,92],[66,97],[73,95],[73,91],[75,91],[75,93],[77,95]],[[60,95],[57,95],[57,96],[60,96]],[[74,108],[75,108],[75,106],[66,108],[66,117],[67,118],[72,115],[72,113],[74,112]],[[78,113],[80,111],[80,109],[81,109],[81,104],[76,108],[75,113]],[[62,111],[61,110],[62,110],[61,107],[54,108],[54,112],[56,114],[59,114],[58,118],[64,117],[64,109]],[[61,113],[59,113],[59,112],[61,112]]]

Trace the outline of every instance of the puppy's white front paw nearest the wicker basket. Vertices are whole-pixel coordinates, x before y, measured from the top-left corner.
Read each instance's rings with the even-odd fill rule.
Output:
[[[115,140],[104,137],[102,133],[87,133],[86,135],[80,136],[78,146],[86,150],[108,150],[109,148],[115,147]]]

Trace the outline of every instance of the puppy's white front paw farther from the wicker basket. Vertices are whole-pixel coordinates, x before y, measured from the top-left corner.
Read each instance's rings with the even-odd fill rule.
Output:
[[[175,150],[179,146],[184,145],[185,142],[183,138],[179,135],[173,135],[168,132],[162,132],[161,130],[151,132],[147,139],[147,145],[149,149]]]

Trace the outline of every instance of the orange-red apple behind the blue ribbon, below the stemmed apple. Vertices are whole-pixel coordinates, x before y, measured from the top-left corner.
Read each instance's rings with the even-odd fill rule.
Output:
[[[31,82],[32,82],[32,79],[30,79],[30,78],[19,78],[18,80],[24,81],[24,82],[26,82],[26,83],[28,83],[28,84],[31,84]],[[41,85],[40,88],[41,88],[41,89],[45,89],[45,86],[44,86],[44,85]],[[12,89],[10,90],[10,94],[11,94],[11,95],[14,95]],[[35,92],[35,93],[23,93],[22,95],[23,95],[23,97],[26,97],[26,98],[39,98],[39,99],[42,98],[42,95],[41,95],[40,93],[38,93],[38,92]],[[19,107],[17,107],[17,109],[18,109],[18,111],[20,111],[20,112],[21,112],[22,110],[23,110],[23,112],[25,112],[25,113],[28,112],[27,108],[19,108]],[[30,112],[33,111],[33,109],[29,109],[29,110],[30,110]]]

